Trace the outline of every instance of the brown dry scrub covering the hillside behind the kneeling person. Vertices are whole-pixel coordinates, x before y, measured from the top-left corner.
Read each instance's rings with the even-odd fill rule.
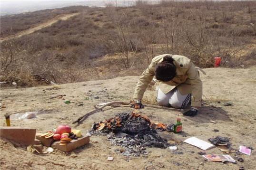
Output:
[[[256,1],[42,10],[2,17],[1,37],[70,12],[79,15],[1,42],[0,81],[32,86],[42,78],[69,83],[138,75],[164,53],[187,56],[201,67],[213,66],[217,56],[222,66],[255,64]]]

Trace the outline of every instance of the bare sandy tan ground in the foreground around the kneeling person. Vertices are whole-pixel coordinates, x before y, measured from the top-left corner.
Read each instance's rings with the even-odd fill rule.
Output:
[[[149,116],[153,122],[174,123],[177,117],[182,118],[184,132],[172,134],[162,132],[161,135],[168,140],[184,141],[195,136],[207,141],[210,137],[223,136],[231,139],[232,147],[246,145],[256,148],[256,67],[246,69],[207,68],[207,75],[202,75],[203,99],[215,105],[204,105],[201,113],[196,117],[182,116],[179,110],[170,108],[155,108],[147,104],[142,113]],[[46,132],[59,124],[71,124],[79,116],[93,109],[94,104],[109,101],[128,101],[131,99],[138,76],[118,77],[110,80],[89,81],[74,84],[54,86],[40,86],[32,88],[1,89],[0,103],[6,108],[0,111],[0,126],[5,126],[5,113],[23,113],[29,111],[42,111],[37,118],[27,120],[11,120],[12,126],[36,128],[37,132]],[[99,92],[100,91],[100,92]],[[147,94],[153,94],[148,91]],[[64,100],[51,98],[56,94],[65,94],[65,100],[71,104],[64,104]],[[90,97],[91,100],[85,100]],[[50,99],[51,98],[51,99]],[[98,98],[98,99],[95,99]],[[232,106],[224,106],[231,102]],[[77,104],[83,103],[82,106]],[[86,134],[93,122],[113,117],[121,111],[131,110],[128,107],[112,108],[104,112],[95,113],[76,129]],[[217,123],[210,123],[210,121]],[[219,132],[213,132],[218,129]],[[147,148],[147,156],[125,157],[118,155],[114,150],[118,146],[111,146],[106,137],[91,136],[90,143],[70,153],[54,151],[53,153],[36,155],[28,151],[15,148],[10,143],[0,140],[0,167],[2,170],[60,170],[60,169],[86,169],[86,170],[238,170],[244,167],[253,170],[256,167],[256,154],[239,155],[244,162],[221,163],[209,162],[198,154],[202,151],[187,143],[177,145],[177,151],[159,148]],[[46,149],[46,148],[45,148]],[[217,148],[207,153],[224,154]],[[235,158],[235,153],[230,154]],[[114,161],[107,161],[108,156]]]

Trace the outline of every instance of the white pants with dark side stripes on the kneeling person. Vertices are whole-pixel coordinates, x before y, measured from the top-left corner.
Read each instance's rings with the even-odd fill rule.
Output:
[[[187,104],[189,104],[190,100],[191,100],[191,94],[182,95],[177,90],[177,88],[173,89],[167,94],[164,94],[158,88],[157,102],[159,105],[168,106],[170,104],[174,108],[184,109],[187,107]]]

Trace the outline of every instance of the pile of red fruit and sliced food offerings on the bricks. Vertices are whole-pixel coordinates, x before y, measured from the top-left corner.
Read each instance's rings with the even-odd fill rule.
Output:
[[[67,144],[73,139],[78,139],[81,136],[80,130],[71,130],[68,125],[59,125],[59,127],[54,129],[53,132],[49,131],[41,135],[41,137],[46,139],[52,137],[55,141],[60,141],[60,145]]]

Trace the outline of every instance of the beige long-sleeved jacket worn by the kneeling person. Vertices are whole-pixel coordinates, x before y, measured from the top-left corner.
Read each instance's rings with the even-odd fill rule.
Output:
[[[138,80],[133,98],[142,99],[144,92],[146,91],[148,84],[152,81],[155,76],[155,67],[158,63],[163,61],[163,57],[170,54],[163,54],[152,59],[151,64],[142,73]],[[195,65],[184,56],[171,55],[174,59],[174,64],[177,67],[175,76],[171,81],[160,82],[159,88],[162,92],[167,94],[175,87],[181,94],[192,94],[191,106],[200,107],[202,100],[202,81],[199,77],[199,73]]]

